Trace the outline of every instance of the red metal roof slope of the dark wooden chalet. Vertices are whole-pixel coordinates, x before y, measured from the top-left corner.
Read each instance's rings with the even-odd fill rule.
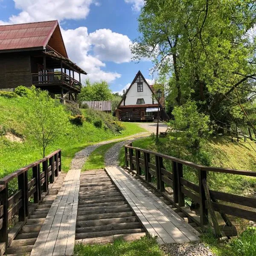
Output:
[[[58,20],[0,26],[0,51],[46,47]]]

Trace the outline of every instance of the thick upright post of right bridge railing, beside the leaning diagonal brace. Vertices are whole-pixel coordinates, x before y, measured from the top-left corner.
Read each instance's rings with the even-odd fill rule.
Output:
[[[208,210],[205,206],[206,195],[204,192],[204,185],[202,180],[207,180],[207,172],[198,170],[198,180],[199,180],[199,195],[200,195],[200,223],[203,228],[205,224],[208,224]]]

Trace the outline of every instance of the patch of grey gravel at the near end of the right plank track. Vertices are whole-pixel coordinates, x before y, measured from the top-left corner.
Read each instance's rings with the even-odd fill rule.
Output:
[[[160,245],[166,256],[215,256],[203,243]]]

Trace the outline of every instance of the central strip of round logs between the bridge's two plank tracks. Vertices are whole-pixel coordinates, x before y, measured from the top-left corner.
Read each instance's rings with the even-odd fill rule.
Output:
[[[129,241],[142,236],[142,224],[107,173],[81,173],[76,243],[108,243],[117,238]]]

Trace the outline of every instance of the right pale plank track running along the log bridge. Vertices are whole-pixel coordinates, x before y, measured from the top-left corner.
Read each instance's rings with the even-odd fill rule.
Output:
[[[121,168],[106,167],[105,170],[140,218],[147,232],[157,236],[160,244],[199,240],[198,231],[148,191],[138,180],[129,176]]]

